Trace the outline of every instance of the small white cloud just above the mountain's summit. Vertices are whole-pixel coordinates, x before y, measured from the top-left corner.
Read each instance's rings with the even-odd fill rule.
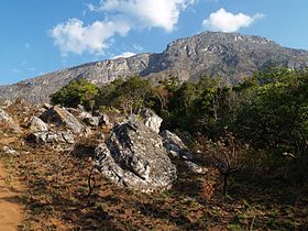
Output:
[[[217,12],[211,13],[209,19],[204,20],[202,25],[213,31],[235,32],[241,28],[250,26],[256,19],[263,16],[260,13],[252,16],[243,13],[233,14],[221,8]]]

